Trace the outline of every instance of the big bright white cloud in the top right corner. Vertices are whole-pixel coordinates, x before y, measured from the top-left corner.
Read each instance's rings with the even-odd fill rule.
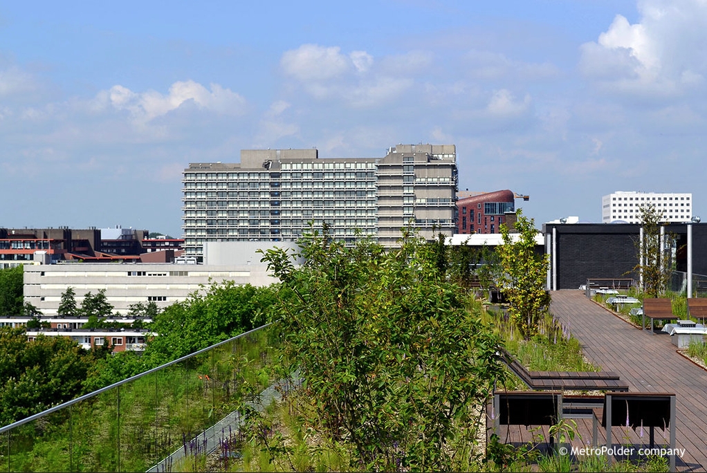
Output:
[[[621,93],[665,97],[703,83],[707,2],[643,0],[631,24],[617,15],[595,42],[580,47],[580,71]]]

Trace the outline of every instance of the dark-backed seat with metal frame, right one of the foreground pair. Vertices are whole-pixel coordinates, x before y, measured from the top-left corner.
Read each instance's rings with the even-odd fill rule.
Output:
[[[628,419],[628,420],[627,420]],[[612,448],[612,426],[649,428],[650,448],[655,447],[655,427],[670,430],[670,450],[675,451],[675,395],[670,392],[607,392],[604,396],[602,427],[607,431],[607,448]],[[609,456],[609,464],[612,459]],[[675,455],[670,455],[675,471]]]

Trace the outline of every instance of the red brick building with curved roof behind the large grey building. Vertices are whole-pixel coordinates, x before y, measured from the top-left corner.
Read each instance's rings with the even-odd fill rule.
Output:
[[[498,233],[501,223],[515,223],[515,194],[499,190],[464,197],[457,200],[457,214],[457,233]]]

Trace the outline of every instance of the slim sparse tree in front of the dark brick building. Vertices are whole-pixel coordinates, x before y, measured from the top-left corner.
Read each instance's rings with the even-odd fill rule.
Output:
[[[667,264],[668,255],[660,241],[660,227],[662,223],[662,211],[652,205],[645,205],[638,208],[643,227],[643,240],[636,242],[638,250],[638,264],[634,271],[643,274],[643,292],[650,297],[662,297],[665,295],[672,264]],[[674,236],[666,235],[672,239]]]

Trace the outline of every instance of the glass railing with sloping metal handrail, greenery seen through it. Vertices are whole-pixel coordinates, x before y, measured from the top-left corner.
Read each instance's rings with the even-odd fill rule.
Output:
[[[276,380],[266,325],[0,428],[7,472],[192,471]],[[232,425],[233,424],[233,425]]]

